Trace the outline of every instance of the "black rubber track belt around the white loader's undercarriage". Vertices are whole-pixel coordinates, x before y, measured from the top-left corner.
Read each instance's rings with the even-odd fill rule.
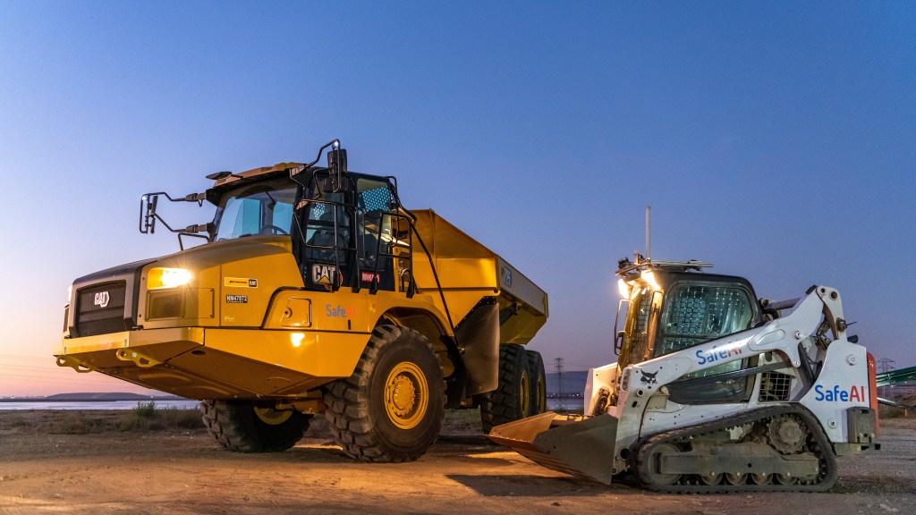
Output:
[[[647,466],[649,465],[647,457],[651,451],[659,444],[671,443],[676,444],[679,441],[687,439],[694,435],[714,433],[730,427],[744,425],[751,422],[758,422],[761,419],[774,417],[781,414],[792,414],[799,416],[808,426],[809,433],[814,437],[814,449],[812,450],[821,463],[822,475],[819,481],[813,485],[796,483],[792,485],[754,485],[748,482],[744,485],[702,485],[702,484],[674,484],[660,485],[657,483],[647,482],[644,477],[652,477]],[[780,406],[773,408],[764,408],[761,410],[750,411],[743,415],[728,418],[725,420],[703,423],[657,433],[644,439],[638,446],[636,457],[636,468],[638,479],[643,487],[651,490],[676,494],[724,494],[736,492],[823,492],[833,488],[836,482],[837,466],[836,456],[834,455],[833,446],[823,433],[821,424],[808,412],[802,408],[792,406]],[[683,478],[682,478],[683,480]]]

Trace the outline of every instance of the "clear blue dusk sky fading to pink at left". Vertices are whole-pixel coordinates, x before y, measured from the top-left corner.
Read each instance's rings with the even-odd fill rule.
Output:
[[[72,279],[178,248],[139,195],[333,137],[550,293],[549,370],[613,360],[647,204],[654,257],[834,286],[916,365],[911,3],[0,0],[0,395],[129,389],[50,352]]]

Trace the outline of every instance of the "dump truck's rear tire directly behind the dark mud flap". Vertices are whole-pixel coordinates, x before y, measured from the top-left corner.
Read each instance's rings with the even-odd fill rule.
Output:
[[[494,426],[527,417],[531,407],[530,393],[525,347],[499,345],[499,383],[495,390],[479,397],[484,433],[489,433]]]

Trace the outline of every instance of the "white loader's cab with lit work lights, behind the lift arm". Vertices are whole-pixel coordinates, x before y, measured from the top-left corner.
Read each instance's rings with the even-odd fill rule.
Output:
[[[626,291],[627,299],[617,312],[620,330],[615,343],[621,370],[747,331],[761,322],[757,297],[747,279],[685,268],[647,266],[622,275],[621,293]],[[752,378],[739,371],[754,365],[746,359],[685,375],[670,385],[671,400],[683,404],[747,400]]]

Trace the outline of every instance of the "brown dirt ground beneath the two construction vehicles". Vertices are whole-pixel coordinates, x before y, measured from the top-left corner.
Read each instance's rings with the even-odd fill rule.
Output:
[[[11,411],[0,411],[0,419]],[[47,418],[47,412],[19,413]],[[111,416],[92,412],[91,416]],[[419,461],[355,463],[321,427],[279,454],[220,449],[202,430],[53,434],[0,424],[0,514],[916,513],[916,421],[840,459],[824,494],[658,495],[564,476],[448,424]],[[316,424],[321,426],[322,424]]]

